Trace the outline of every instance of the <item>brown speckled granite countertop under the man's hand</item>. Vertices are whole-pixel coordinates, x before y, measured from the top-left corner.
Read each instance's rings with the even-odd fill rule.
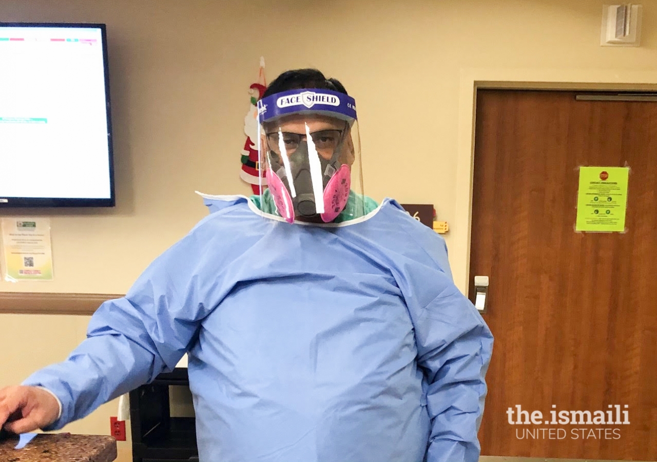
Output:
[[[0,442],[0,462],[112,462],[112,436],[38,434],[25,448],[14,450],[18,436]]]

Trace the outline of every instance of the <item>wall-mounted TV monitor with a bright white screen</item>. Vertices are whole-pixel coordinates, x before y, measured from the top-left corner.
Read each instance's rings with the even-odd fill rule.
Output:
[[[104,24],[0,22],[0,208],[114,201]]]

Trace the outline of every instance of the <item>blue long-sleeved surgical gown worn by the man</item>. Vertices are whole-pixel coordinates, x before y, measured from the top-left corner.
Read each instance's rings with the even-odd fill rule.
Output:
[[[441,237],[389,199],[324,226],[206,203],[66,361],[24,382],[62,402],[48,429],[188,352],[201,462],[478,459],[492,337]]]

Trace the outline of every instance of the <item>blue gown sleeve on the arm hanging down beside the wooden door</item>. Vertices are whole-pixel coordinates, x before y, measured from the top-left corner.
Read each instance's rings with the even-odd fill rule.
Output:
[[[426,462],[476,462],[493,335],[454,285],[444,239],[399,212],[391,219],[405,233],[390,266],[411,315],[426,384]]]

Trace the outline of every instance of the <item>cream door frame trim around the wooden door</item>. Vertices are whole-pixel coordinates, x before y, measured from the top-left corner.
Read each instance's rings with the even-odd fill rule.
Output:
[[[451,266],[454,282],[468,294],[470,281],[470,230],[472,228],[472,177],[474,127],[478,89],[551,89],[563,91],[657,91],[657,72],[609,69],[502,69],[464,68],[459,79],[456,203]]]

